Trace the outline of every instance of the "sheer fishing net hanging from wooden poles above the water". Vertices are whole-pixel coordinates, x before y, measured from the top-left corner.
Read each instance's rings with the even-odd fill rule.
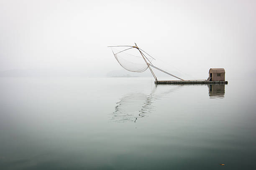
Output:
[[[128,71],[132,72],[143,72],[147,70],[148,65],[145,60],[141,56],[139,50],[135,47],[111,47],[115,59],[119,62],[119,64]],[[151,62],[153,59],[151,57],[147,57]],[[148,62],[148,61],[147,61]]]

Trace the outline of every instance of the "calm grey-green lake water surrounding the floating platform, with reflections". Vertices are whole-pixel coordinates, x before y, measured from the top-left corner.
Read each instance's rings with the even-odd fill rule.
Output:
[[[0,169],[256,170],[255,85],[0,78]]]

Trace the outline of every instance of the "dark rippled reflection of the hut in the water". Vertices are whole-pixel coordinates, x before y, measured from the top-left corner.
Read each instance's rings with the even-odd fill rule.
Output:
[[[225,84],[209,84],[209,96],[211,98],[222,98],[225,94]]]

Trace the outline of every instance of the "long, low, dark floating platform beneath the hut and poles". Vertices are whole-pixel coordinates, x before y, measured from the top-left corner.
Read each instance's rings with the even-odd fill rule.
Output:
[[[205,81],[205,80],[164,80],[155,81],[155,84],[212,84],[221,83],[228,84],[228,81]]]

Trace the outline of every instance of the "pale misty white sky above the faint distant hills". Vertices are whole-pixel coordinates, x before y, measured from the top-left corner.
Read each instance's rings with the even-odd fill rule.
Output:
[[[122,69],[107,46],[136,42],[170,72],[254,75],[255,16],[255,0],[0,0],[0,71],[104,76]]]

